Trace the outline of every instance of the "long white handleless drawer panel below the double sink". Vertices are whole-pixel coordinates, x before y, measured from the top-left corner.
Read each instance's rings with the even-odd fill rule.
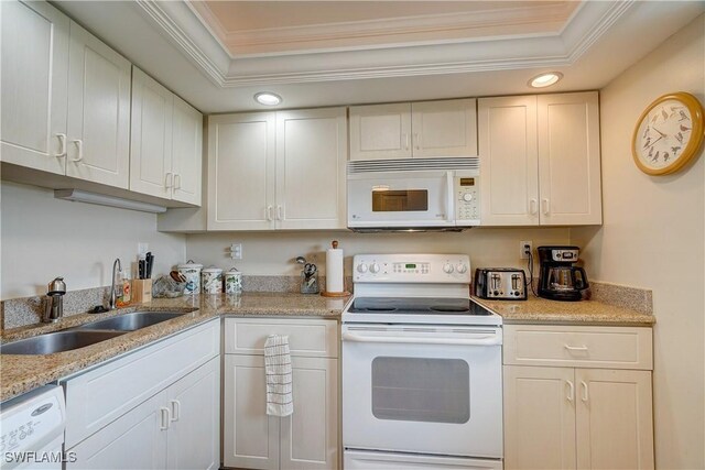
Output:
[[[68,379],[66,448],[218,356],[219,330],[215,319]]]

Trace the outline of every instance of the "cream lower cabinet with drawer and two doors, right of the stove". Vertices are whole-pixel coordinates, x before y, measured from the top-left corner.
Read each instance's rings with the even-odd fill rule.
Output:
[[[543,353],[531,337],[543,338]],[[653,468],[651,350],[642,346],[650,341],[650,328],[507,325],[505,468]],[[566,358],[544,365],[556,361],[557,343]],[[619,346],[614,362],[601,354],[610,345]],[[644,370],[625,369],[625,356]]]

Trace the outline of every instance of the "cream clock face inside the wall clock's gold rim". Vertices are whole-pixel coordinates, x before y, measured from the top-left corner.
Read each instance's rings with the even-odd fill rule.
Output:
[[[641,121],[637,150],[642,163],[654,170],[671,166],[687,147],[693,132],[691,111],[669,99],[653,108]]]

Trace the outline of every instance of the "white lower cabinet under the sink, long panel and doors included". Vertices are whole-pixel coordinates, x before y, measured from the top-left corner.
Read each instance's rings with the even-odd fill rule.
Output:
[[[75,461],[65,468],[218,469],[219,325],[210,321],[68,379],[65,448]]]

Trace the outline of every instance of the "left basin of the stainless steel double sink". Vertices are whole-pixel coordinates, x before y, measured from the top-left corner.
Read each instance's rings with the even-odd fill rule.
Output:
[[[124,331],[56,331],[2,345],[0,353],[52,354],[84,348],[120,335],[124,335]]]

